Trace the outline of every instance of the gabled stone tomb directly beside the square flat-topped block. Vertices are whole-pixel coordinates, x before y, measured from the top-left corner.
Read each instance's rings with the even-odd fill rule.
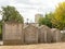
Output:
[[[24,27],[24,42],[38,44],[38,27],[30,24]]]

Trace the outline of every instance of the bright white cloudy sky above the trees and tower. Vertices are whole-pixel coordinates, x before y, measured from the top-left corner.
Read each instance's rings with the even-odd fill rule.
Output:
[[[25,22],[29,19],[29,22],[35,22],[35,14],[46,14],[53,12],[55,7],[65,0],[1,0],[1,7],[13,5],[23,15]],[[0,16],[2,19],[2,16]]]

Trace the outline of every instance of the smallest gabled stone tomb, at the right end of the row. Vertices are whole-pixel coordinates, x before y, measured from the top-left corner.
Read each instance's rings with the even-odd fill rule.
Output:
[[[52,36],[53,36],[53,42],[60,42],[61,41],[61,30],[58,30],[57,28],[52,28]]]

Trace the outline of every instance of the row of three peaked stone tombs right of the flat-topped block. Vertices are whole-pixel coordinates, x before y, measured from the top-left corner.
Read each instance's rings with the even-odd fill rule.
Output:
[[[38,27],[27,26],[24,28],[25,42],[58,42],[61,41],[61,32],[56,28],[49,28],[46,25]]]

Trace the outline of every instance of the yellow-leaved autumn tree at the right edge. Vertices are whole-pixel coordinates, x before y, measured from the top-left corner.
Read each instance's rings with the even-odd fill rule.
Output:
[[[58,3],[56,7],[52,24],[58,29],[63,29],[65,27],[65,2]]]

